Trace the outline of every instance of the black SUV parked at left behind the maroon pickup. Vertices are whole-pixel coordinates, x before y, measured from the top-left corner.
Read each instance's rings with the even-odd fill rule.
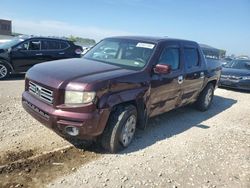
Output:
[[[45,61],[81,57],[82,51],[81,46],[65,39],[15,37],[0,45],[0,80]]]

